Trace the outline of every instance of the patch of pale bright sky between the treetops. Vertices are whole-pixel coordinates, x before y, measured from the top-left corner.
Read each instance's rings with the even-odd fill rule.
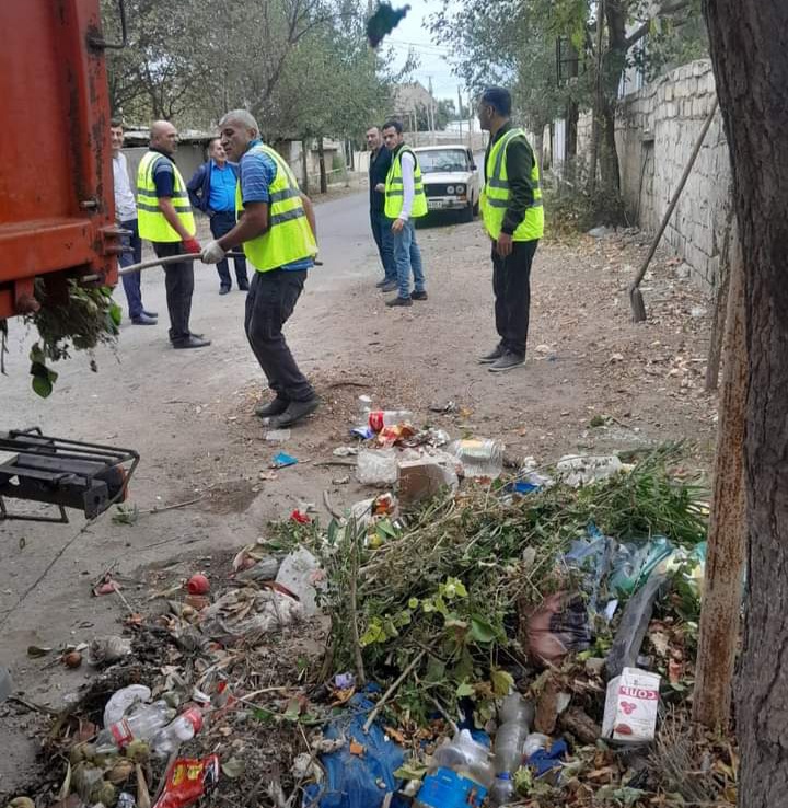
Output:
[[[396,66],[402,67],[407,58],[408,46],[413,46],[419,58],[419,67],[414,73],[414,79],[420,81],[426,88],[429,86],[432,77],[432,90],[438,99],[453,99],[456,103],[457,85],[462,86],[462,80],[452,73],[449,61],[450,50],[432,41],[429,32],[429,16],[443,7],[441,0],[393,0],[392,5],[399,8],[410,5],[407,16],[394,28],[384,41],[384,45],[394,47],[396,54]],[[465,88],[463,86],[463,99]]]

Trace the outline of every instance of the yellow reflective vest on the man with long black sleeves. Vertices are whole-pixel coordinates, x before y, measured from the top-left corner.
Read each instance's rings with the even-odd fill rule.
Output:
[[[493,239],[500,235],[503,218],[510,200],[509,175],[506,165],[506,151],[514,138],[523,138],[522,129],[510,129],[490,149],[486,164],[485,186],[482,189],[482,217],[485,229]],[[525,141],[528,142],[528,140]],[[533,201],[525,210],[525,217],[512,233],[513,241],[534,241],[544,235],[544,208],[542,207],[542,187],[540,185],[538,164],[534,157],[534,165],[531,170],[531,186],[533,187]]]

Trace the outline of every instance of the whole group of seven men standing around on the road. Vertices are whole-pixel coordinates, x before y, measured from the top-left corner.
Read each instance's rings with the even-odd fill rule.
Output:
[[[487,89],[478,104],[480,125],[490,132],[485,155],[480,209],[491,241],[495,321],[494,350],[479,358],[502,372],[525,361],[531,264],[544,230],[540,169],[522,130],[510,122],[511,97],[501,88]],[[120,266],[139,263],[141,239],[151,242],[165,273],[170,340],[174,348],[210,345],[190,331],[194,258],[216,264],[220,293],[231,289],[228,253],[233,252],[239,289],[246,291],[244,328],[274,397],[255,411],[274,427],[286,427],[320,405],[282,335],[309,269],[317,254],[312,203],[299,189],[292,170],[262,142],[259,127],[245,109],[228,113],[211,140],[209,161],[184,182],[175,164],[177,131],[165,120],[151,126],[149,150],[137,173],[135,197],[120,151],[123,127],[112,122],[116,215],[127,231]],[[405,142],[402,124],[387,120],[371,127],[370,218],[383,264],[378,284],[396,291],[387,307],[427,300],[415,220],[427,215],[418,159]],[[210,217],[213,240],[204,249],[195,238],[193,206]],[[194,256],[194,257],[190,257]],[[248,281],[247,263],[253,277]],[[142,305],[139,273],[123,276],[131,322],[153,325],[155,312]]]

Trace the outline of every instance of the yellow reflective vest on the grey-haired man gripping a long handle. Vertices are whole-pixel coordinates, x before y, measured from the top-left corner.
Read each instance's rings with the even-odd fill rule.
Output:
[[[276,164],[276,175],[268,186],[268,230],[252,241],[245,241],[243,251],[259,273],[277,269],[303,258],[317,255],[314,233],[301,201],[298,180],[278,151],[269,146],[253,146],[248,154],[266,154]],[[246,157],[246,155],[245,155]],[[243,172],[243,161],[241,171]],[[241,181],[235,185],[235,215],[243,210]]]

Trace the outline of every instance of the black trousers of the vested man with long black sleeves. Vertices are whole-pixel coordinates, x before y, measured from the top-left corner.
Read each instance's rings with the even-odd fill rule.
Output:
[[[522,357],[525,356],[531,308],[531,262],[537,244],[537,240],[515,241],[506,258],[501,258],[493,245],[493,291],[499,345]]]

